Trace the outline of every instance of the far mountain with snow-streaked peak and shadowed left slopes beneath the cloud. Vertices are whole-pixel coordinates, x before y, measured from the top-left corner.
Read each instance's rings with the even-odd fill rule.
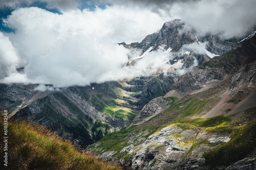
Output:
[[[249,35],[247,39],[250,37]],[[204,35],[187,21],[175,19],[164,23],[158,32],[146,36],[141,43],[120,43],[126,48],[140,50],[140,57],[161,46],[173,56],[170,60],[173,68],[167,74],[160,70],[152,76],[44,92],[35,90],[38,84],[1,84],[0,106],[8,108],[10,115],[15,118],[32,119],[57,130],[59,135],[72,134],[72,140],[89,145],[104,135],[127,126],[138,113],[143,117],[146,112],[151,111],[153,116],[155,111],[164,109],[162,104],[166,99],[160,96],[165,96],[171,87],[175,87],[172,85],[180,77],[175,71],[185,69],[188,72],[193,66],[201,65],[213,56],[240,47],[244,40],[225,40],[220,35],[210,33]],[[193,49],[186,49],[187,45],[193,45]],[[200,54],[196,48],[200,48]],[[137,60],[140,59],[132,61],[131,58],[128,65]],[[178,67],[173,64],[178,64]],[[144,109],[144,106],[151,106],[147,103],[153,99],[159,108]],[[144,112],[140,112],[141,110]],[[142,118],[136,117],[135,120],[140,119]]]

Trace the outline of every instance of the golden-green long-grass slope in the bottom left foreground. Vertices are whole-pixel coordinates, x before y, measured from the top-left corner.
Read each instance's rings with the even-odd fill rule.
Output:
[[[2,114],[0,122],[3,127]],[[32,122],[9,120],[8,137],[8,167],[4,169],[121,169],[102,162],[89,152],[79,152],[70,141]]]

